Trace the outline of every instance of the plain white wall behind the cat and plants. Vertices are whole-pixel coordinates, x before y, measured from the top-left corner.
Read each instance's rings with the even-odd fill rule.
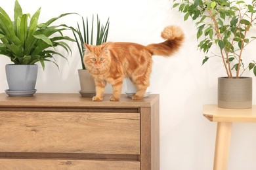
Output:
[[[109,41],[129,41],[140,44],[163,41],[162,29],[170,24],[182,27],[186,40],[181,50],[171,58],[154,56],[151,92],[160,94],[160,166],[161,170],[212,169],[216,124],[202,116],[202,105],[217,103],[217,77],[225,76],[219,59],[202,65],[204,54],[197,50],[196,29],[191,20],[184,22],[170,0],[20,0],[24,12],[41,7],[41,22],[64,12],[81,16],[99,14],[102,21],[110,17]],[[83,2],[83,3],[81,3]],[[14,0],[1,0],[1,7],[13,14]],[[62,22],[76,26],[79,16],[67,16]],[[254,29],[255,31],[255,29]],[[70,36],[72,36],[71,33]],[[252,58],[254,44],[247,46],[245,57]],[[60,71],[53,63],[39,65],[37,93],[78,93],[77,69],[81,68],[75,42],[68,62],[57,58]],[[59,51],[62,52],[62,51]],[[9,58],[0,56],[0,92],[8,88],[5,64]],[[246,73],[244,76],[253,76]],[[253,88],[255,88],[253,78]],[[125,88],[124,88],[125,89]],[[106,92],[112,92],[110,88]],[[253,92],[253,104],[256,101]],[[229,169],[256,169],[256,124],[234,124],[230,146]]]

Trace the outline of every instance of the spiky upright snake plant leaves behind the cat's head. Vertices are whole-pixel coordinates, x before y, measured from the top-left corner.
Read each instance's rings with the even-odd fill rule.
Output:
[[[84,43],[91,44],[91,45],[92,44],[100,45],[100,44],[103,44],[104,42],[106,42],[108,39],[108,31],[109,31],[109,27],[110,27],[110,22],[109,22],[109,18],[108,18],[105,25],[103,25],[103,24],[100,25],[100,19],[98,18],[98,15],[97,15],[96,41],[93,41],[93,37],[95,37],[94,16],[92,18],[91,31],[89,30],[88,17],[86,18],[86,24],[85,24],[85,20],[83,19],[83,17],[82,17],[82,22],[83,22],[82,27],[77,23],[77,29],[73,30],[73,33],[74,33],[74,37],[75,37],[75,42],[77,43],[77,47],[79,50],[82,68],[86,69],[85,65],[83,63],[83,52],[85,51]]]

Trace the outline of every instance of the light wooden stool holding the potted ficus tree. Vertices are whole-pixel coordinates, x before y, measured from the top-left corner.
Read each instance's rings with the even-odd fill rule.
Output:
[[[251,109],[223,109],[217,105],[203,105],[203,116],[211,122],[217,122],[213,170],[226,170],[232,123],[256,122],[256,105]]]

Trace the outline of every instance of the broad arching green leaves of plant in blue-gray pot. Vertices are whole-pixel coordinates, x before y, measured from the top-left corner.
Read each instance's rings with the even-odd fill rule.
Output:
[[[67,58],[54,48],[61,46],[66,52],[72,52],[65,41],[74,40],[62,33],[70,27],[64,24],[51,24],[63,16],[74,13],[61,14],[38,24],[40,12],[41,8],[30,18],[30,14],[22,13],[22,8],[16,0],[12,22],[7,12],[0,7],[0,54],[8,56],[14,64],[31,65],[39,61],[45,69],[45,61],[51,61],[58,67],[54,55]]]

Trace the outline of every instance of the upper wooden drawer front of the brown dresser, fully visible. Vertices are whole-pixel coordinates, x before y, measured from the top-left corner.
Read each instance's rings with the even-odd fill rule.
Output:
[[[140,154],[140,114],[0,112],[0,152]]]

